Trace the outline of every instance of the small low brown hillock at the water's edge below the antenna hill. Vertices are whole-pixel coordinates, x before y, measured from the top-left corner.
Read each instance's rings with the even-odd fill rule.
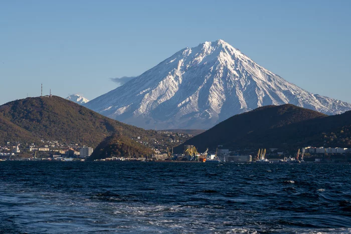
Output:
[[[106,157],[143,157],[150,156],[154,152],[128,137],[114,134],[103,140],[94,149],[87,161],[103,159]]]

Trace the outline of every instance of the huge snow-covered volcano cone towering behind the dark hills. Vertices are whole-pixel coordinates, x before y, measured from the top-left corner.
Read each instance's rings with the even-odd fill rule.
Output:
[[[211,128],[265,105],[326,114],[351,104],[309,93],[259,66],[223,40],[185,48],[85,106],[143,128]]]

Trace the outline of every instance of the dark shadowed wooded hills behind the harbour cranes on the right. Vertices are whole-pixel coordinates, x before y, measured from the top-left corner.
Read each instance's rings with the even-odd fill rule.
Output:
[[[235,115],[176,147],[195,145],[200,151],[218,145],[230,149],[302,146],[351,147],[351,111],[327,116],[291,104],[265,106]]]

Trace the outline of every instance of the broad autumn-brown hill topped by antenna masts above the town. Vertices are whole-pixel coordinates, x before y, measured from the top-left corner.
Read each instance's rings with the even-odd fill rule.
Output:
[[[0,141],[35,139],[58,140],[80,143],[95,147],[112,133],[122,133],[126,137],[140,136],[141,139],[155,138],[155,131],[144,130],[109,119],[88,108],[66,99],[36,97],[16,100],[0,106],[0,116],[6,127],[0,128]],[[6,135],[7,128],[14,134]]]

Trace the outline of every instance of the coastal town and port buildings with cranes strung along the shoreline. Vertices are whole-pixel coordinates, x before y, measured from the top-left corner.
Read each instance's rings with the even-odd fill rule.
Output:
[[[123,156],[116,157],[107,155],[106,158],[96,161],[207,161],[207,162],[328,162],[328,163],[350,163],[351,149],[338,147],[303,147],[297,154],[279,148],[259,149],[258,153],[249,149],[230,150],[218,145],[216,149],[197,152],[193,145],[185,145],[183,153],[173,153],[173,148],[167,147],[169,143],[181,144],[191,135],[159,131],[159,134],[169,136],[168,144],[162,144],[153,139],[150,143],[142,141],[140,137],[133,138],[134,141],[146,146],[153,145],[151,155],[145,156]],[[181,139],[180,139],[181,138]],[[158,146],[158,147],[157,147]],[[5,160],[55,160],[55,161],[85,161],[94,151],[88,145],[77,143],[61,143],[59,141],[42,140],[39,144],[23,142],[5,142],[0,145],[0,161]],[[203,160],[205,159],[205,160]]]

